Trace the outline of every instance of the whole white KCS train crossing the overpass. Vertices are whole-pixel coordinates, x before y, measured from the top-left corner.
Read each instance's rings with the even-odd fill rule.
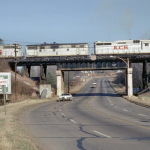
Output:
[[[21,46],[17,44],[17,57],[22,57]],[[26,45],[26,57],[86,58],[90,55],[88,43],[52,43]],[[0,45],[0,58],[15,57],[15,45]],[[150,54],[150,40],[119,40],[113,42],[96,41],[94,55]]]

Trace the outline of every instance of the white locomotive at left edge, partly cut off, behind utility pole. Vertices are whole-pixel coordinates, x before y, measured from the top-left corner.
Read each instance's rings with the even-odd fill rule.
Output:
[[[21,46],[19,44],[16,45],[16,51],[17,57],[21,57]],[[5,57],[15,57],[15,45],[0,45],[0,58]]]

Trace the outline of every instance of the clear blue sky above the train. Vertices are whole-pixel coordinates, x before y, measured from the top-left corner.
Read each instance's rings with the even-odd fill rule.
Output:
[[[150,0],[0,0],[0,14],[6,44],[150,39]]]

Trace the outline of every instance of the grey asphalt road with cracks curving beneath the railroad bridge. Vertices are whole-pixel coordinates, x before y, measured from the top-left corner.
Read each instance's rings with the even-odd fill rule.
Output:
[[[37,106],[21,118],[44,150],[150,149],[150,109],[121,98],[108,78],[93,79],[72,102]]]

